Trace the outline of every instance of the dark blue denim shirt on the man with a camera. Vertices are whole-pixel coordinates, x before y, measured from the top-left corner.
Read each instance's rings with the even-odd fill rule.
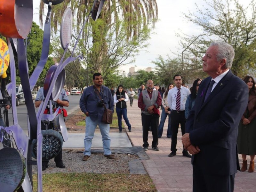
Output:
[[[100,102],[100,98],[95,91],[94,86],[90,86],[84,89],[84,92],[80,98],[79,105],[81,111],[84,114],[86,112],[89,113],[92,121],[98,120],[99,122],[102,122],[102,116],[105,108],[97,106],[97,103]],[[114,99],[108,87],[105,87],[103,85],[101,86],[100,96],[104,100],[106,108],[114,112]]]

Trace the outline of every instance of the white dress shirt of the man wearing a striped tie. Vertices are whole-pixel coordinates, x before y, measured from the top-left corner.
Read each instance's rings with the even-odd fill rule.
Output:
[[[169,90],[167,95],[168,106],[172,110],[176,110],[176,97],[177,97],[178,88],[174,87]],[[190,91],[187,87],[180,87],[180,111],[185,110],[185,104]]]

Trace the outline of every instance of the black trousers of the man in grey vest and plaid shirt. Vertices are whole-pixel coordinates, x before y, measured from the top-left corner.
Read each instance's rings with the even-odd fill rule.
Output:
[[[152,147],[158,145],[158,124],[159,124],[159,115],[150,114],[145,115],[141,113],[141,123],[142,123],[142,137],[143,137],[143,147],[148,147],[148,131],[149,126],[151,125],[151,131],[153,136]]]

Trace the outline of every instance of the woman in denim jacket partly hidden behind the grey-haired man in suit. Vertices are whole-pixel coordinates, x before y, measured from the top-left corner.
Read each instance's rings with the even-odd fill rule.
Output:
[[[200,83],[202,82],[202,79],[198,78],[194,81],[191,89],[190,95],[188,95],[188,98],[186,100],[185,104],[185,118],[188,118],[189,112],[192,109],[192,107],[195,105],[196,101],[196,95],[199,88]]]

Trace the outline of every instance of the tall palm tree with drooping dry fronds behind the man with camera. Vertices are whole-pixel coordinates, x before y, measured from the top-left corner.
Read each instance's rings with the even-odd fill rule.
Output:
[[[51,15],[52,28],[57,30],[61,22],[61,16],[65,9],[70,7],[73,15],[75,15],[74,18],[76,18],[76,31],[80,31],[82,24],[92,9],[93,2],[94,0],[64,0],[58,5],[53,5]],[[110,73],[111,70],[107,72],[108,68],[103,66],[103,63],[109,62],[109,58],[103,62],[110,49],[109,45],[107,45],[109,33],[115,31],[116,34],[114,36],[119,36],[122,29],[125,33],[124,41],[133,42],[133,44],[143,44],[145,42],[139,42],[138,39],[141,39],[140,36],[143,33],[148,33],[150,28],[154,27],[157,21],[157,12],[156,0],[106,0],[99,19],[96,22],[89,19],[90,24],[84,28],[81,40],[79,41],[79,44],[87,44],[88,38],[90,38],[88,37],[88,31],[92,31],[92,52],[88,54],[88,49],[79,49],[83,55],[86,55],[84,58],[87,58],[87,68],[91,69],[92,73],[103,70],[105,76],[107,73]],[[42,16],[44,14],[44,3],[42,1],[39,13],[40,22],[42,23]],[[115,28],[115,30],[111,30],[112,28]],[[73,36],[75,35],[73,34]],[[130,53],[127,55],[129,56]],[[124,60],[128,56],[125,56]],[[88,59],[88,57],[90,58]],[[91,65],[88,66],[88,63],[91,63]],[[119,61],[119,64],[123,64],[123,61]],[[118,68],[118,65],[112,66],[113,68]]]

